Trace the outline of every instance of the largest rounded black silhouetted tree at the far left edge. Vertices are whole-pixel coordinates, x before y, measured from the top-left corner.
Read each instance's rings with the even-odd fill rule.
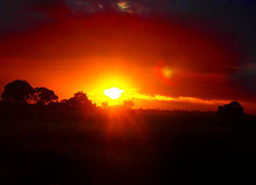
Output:
[[[35,93],[34,88],[26,81],[15,80],[5,85],[1,95],[4,102],[26,103]]]

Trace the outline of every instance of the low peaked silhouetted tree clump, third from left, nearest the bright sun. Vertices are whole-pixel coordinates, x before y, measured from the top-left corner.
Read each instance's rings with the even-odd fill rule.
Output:
[[[74,94],[74,97],[68,99],[67,101],[62,101],[68,107],[74,108],[88,108],[93,107],[92,102],[87,98],[87,94],[83,92],[78,92]]]

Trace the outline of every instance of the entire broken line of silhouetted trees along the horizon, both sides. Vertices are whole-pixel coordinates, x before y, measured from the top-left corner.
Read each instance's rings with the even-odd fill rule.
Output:
[[[65,100],[58,101],[58,96],[54,91],[47,89],[46,87],[33,88],[29,83],[23,80],[15,80],[12,83],[5,85],[4,93],[1,95],[3,102],[15,103],[15,104],[36,104],[36,105],[48,105],[48,104],[62,104],[67,107],[76,108],[89,108],[96,107],[96,103],[92,103],[87,98],[87,93],[78,92],[73,97]],[[102,102],[103,108],[108,108],[108,102]],[[125,108],[132,108],[135,106],[132,101],[124,101],[122,106]],[[243,117],[244,109],[239,102],[230,102],[218,107],[218,115],[220,117]]]

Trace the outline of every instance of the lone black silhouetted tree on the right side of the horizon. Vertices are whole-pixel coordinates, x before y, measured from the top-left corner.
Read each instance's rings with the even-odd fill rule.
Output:
[[[239,102],[230,102],[219,106],[218,115],[225,118],[241,118],[244,116],[244,110]]]

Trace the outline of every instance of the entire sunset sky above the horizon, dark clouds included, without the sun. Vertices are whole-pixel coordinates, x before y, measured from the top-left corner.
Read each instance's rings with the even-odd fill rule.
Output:
[[[0,1],[0,92],[103,92],[139,108],[256,111],[255,0]]]

